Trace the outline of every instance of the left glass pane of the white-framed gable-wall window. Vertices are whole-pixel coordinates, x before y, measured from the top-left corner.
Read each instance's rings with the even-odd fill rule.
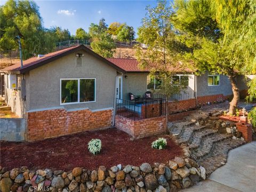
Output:
[[[61,80],[61,103],[78,102],[78,81]]]

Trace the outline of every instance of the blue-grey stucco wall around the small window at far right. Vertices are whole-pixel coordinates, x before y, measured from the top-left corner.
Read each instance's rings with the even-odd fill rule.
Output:
[[[208,86],[208,73],[196,77],[197,96],[223,94],[230,95],[232,93],[231,84],[225,75],[220,75],[220,84]]]

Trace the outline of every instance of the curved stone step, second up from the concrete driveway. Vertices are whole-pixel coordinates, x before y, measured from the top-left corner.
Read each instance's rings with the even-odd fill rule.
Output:
[[[199,160],[211,153],[214,143],[221,142],[225,139],[231,138],[231,134],[215,134],[203,138],[200,147],[192,151],[193,156]]]

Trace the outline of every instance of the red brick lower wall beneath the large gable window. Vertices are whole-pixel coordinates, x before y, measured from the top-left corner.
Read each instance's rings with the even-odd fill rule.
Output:
[[[27,140],[36,141],[112,126],[113,109],[67,111],[64,108],[27,113]]]

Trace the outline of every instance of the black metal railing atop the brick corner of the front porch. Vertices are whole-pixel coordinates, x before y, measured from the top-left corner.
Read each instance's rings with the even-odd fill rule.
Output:
[[[140,99],[129,101],[116,99],[116,115],[131,118],[134,121],[139,119],[160,117],[165,115],[165,99]]]

